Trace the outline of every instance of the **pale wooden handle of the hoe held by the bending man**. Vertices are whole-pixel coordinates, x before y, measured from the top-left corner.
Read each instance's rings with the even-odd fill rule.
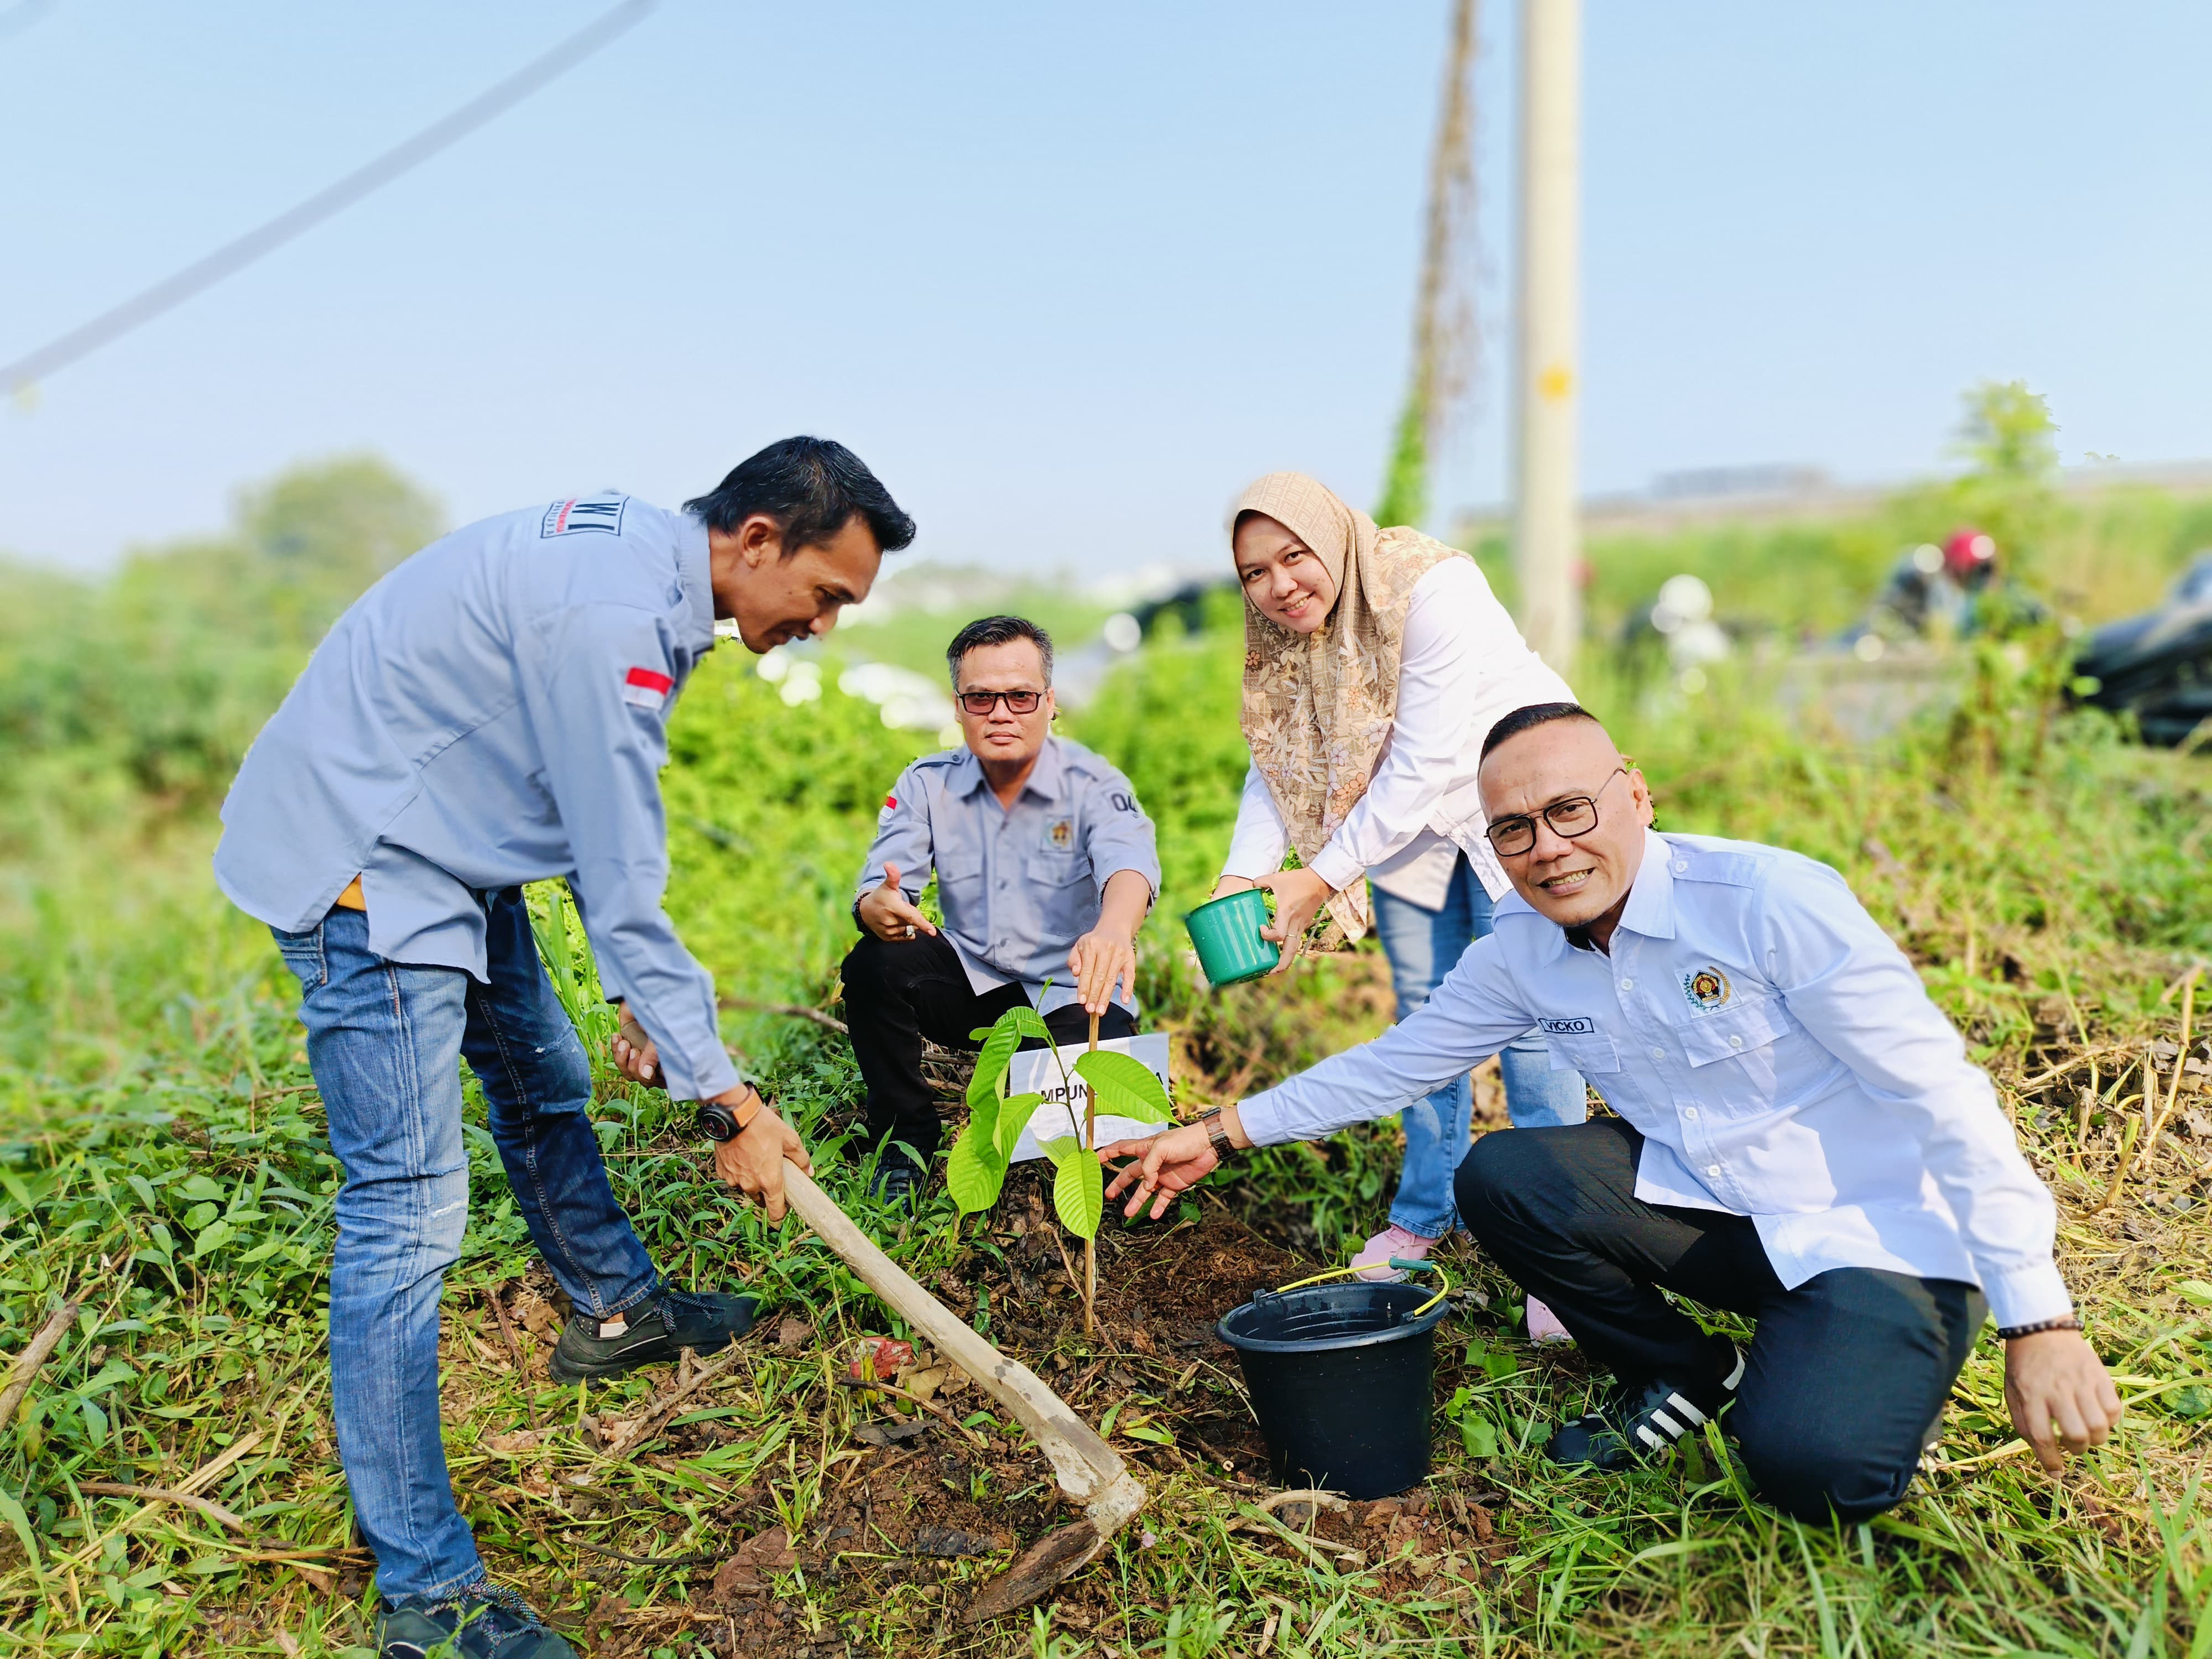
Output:
[[[814,1177],[783,1161],[783,1197],[799,1217],[838,1252],[883,1305],[918,1329],[945,1358],[975,1378],[1035,1438],[1053,1462],[1060,1489],[1084,1504],[1099,1537],[1110,1537],[1144,1504],[1144,1486],[1128,1467],[1020,1360],[1011,1360],[978,1336],[967,1321],[922,1290],[876,1243],[860,1232]]]

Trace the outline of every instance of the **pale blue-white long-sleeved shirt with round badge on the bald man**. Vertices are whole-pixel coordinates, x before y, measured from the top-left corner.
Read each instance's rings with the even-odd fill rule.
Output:
[[[1759,1225],[1783,1285],[1887,1267],[2073,1307],[2055,1206],[1989,1077],[1827,865],[1646,832],[1610,953],[1513,894],[1407,1020],[1239,1106],[1261,1146],[1385,1117],[1535,1026],[1644,1133],[1637,1197]]]

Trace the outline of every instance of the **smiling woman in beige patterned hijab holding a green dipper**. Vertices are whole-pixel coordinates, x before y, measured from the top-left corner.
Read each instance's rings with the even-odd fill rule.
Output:
[[[1491,931],[1506,891],[1482,834],[1482,739],[1502,714],[1573,692],[1473,560],[1413,529],[1376,529],[1305,473],[1270,473],[1243,493],[1230,553],[1245,595],[1252,770],[1214,894],[1274,891],[1265,936],[1285,962],[1323,907],[1349,938],[1374,925],[1405,1020]],[[1285,847],[1298,869],[1283,869]],[[1517,1128],[1584,1119],[1582,1075],[1553,1071],[1540,1037],[1506,1048],[1502,1068]],[[1389,1228],[1354,1256],[1367,1279],[1387,1279],[1391,1256],[1427,1256],[1458,1225],[1451,1177],[1471,1115],[1467,1077],[1405,1110]],[[1528,1334],[1564,1338],[1533,1298]]]

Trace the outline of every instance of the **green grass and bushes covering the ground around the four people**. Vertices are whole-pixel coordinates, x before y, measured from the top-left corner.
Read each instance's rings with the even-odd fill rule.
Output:
[[[2119,568],[2137,555],[2097,540],[2099,524],[2119,524],[2135,538],[2126,546],[2154,551],[2141,555],[2148,568],[2201,533],[2188,529],[2197,509],[2154,498],[2137,509],[2097,518],[2119,504],[2062,504],[2039,557],[2066,568],[2079,546]],[[323,1374],[338,1172],[294,989],[265,933],[212,891],[206,856],[228,768],[321,619],[427,522],[405,484],[347,465],[250,500],[232,538],[146,555],[100,586],[0,577],[0,1349],[22,1352],[49,1310],[82,1296],[0,1425],[0,1655],[323,1655],[363,1639],[363,1562],[347,1553]],[[1949,529],[1933,507],[1918,522],[1927,529],[1869,531],[1871,564],[1887,564],[1898,538]],[[1787,533],[1761,535],[1778,546]],[[1747,582],[1767,580],[1759,557]],[[1659,575],[1694,568],[1655,560]],[[1778,560],[1772,580],[1776,595],[1792,582]],[[1728,580],[1714,588],[1728,608]],[[1387,1018],[1371,949],[1219,998],[1183,962],[1177,916],[1210,883],[1243,776],[1239,650],[1234,628],[1155,641],[1073,721],[1161,827],[1166,894],[1146,927],[1141,989],[1150,1018],[1177,1033],[1186,1108],[1250,1093]],[[1955,1391],[1938,1467],[1871,1526],[1776,1520],[1741,1491],[1719,1440],[1624,1480],[1559,1478],[1535,1447],[1597,1378],[1573,1354],[1531,1349],[1511,1285],[1460,1250],[1453,1281],[1486,1303],[1444,1327],[1427,1504],[1305,1522],[1263,1513],[1221,1462],[1245,1444],[1234,1367],[1159,1338],[1166,1292],[1152,1279],[1141,1281],[1150,1314],[1115,1298],[1155,1272],[1146,1263],[1194,1274],[1197,1256],[1175,1252],[1234,1243],[1232,1217],[1340,1261],[1380,1214],[1389,1126],[1250,1159],[1170,1223],[1181,1232],[1108,1221],[1099,1332],[1084,1336],[1060,1285],[1057,1232],[1026,1221],[1042,1217],[1031,1172],[1011,1175],[998,1208],[964,1228],[942,1192],[911,1221],[874,1208],[847,1141],[860,1091],[843,1042],[732,1006],[728,1035],[770,1079],[830,1190],[1141,1467],[1150,1533],[1117,1540],[1035,1615],[958,1626],[951,1615],[1011,1544],[931,1555],[896,1531],[894,1500],[1026,1542],[1046,1520],[1042,1460],[989,1398],[951,1391],[956,1380],[938,1398],[958,1402],[964,1431],[925,1413],[916,1422],[938,1427],[905,1449],[856,1438],[907,1429],[887,1422],[880,1396],[834,1378],[858,1336],[907,1332],[796,1223],[772,1230],[714,1186],[686,1113],[602,1073],[602,1144],[657,1261],[679,1283],[743,1283],[772,1312],[741,1363],[661,1427],[646,1411],[672,1378],[588,1398],[551,1387],[553,1310],[476,1099],[445,1398],[453,1478],[487,1559],[606,1655],[737,1641],[1062,1659],[1263,1646],[2201,1659],[2212,1652],[2201,1491],[2212,991],[2185,975],[2212,956],[2212,763],[2143,752],[2110,721],[2064,712],[2059,664],[2055,637],[1960,653],[1949,695],[1874,743],[1845,741],[1816,703],[1783,710],[1774,670],[1756,664],[1714,672],[1694,697],[1639,690],[1601,659],[1577,684],[1652,776],[1663,825],[1834,863],[1997,1077],[2059,1197],[2062,1263],[2093,1340],[2130,1400],[2115,1442],[2062,1480],[2011,1449],[1989,1338]],[[80,679],[60,679],[69,672]],[[42,690],[55,686],[75,690]],[[701,670],[672,734],[670,907],[732,1004],[834,1013],[860,852],[918,745],[834,688],[783,706],[739,653]],[[540,894],[538,911],[575,1011],[593,1013],[557,894]],[[1024,1210],[1031,1197],[1037,1208]],[[902,1387],[927,1391],[918,1378]],[[611,1458],[602,1447],[622,1425],[650,1433]],[[1248,1473],[1250,1460],[1237,1467]],[[190,1489],[201,1506],[113,1486]],[[867,1533],[863,1551],[838,1526],[894,1531]],[[732,1573],[737,1599],[710,1604],[712,1562],[741,1540],[759,1566]],[[695,1555],[708,1564],[681,1564]]]

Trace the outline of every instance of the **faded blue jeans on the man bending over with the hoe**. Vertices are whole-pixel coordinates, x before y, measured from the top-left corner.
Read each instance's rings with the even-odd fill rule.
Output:
[[[387,962],[352,909],[276,933],[301,982],[330,1150],[345,1166],[330,1378],[338,1460],[387,1601],[484,1577],[438,1436],[438,1292],[469,1219],[462,1055],[484,1086],[515,1206],[577,1312],[611,1316],[659,1290],[606,1181],[586,1115],[591,1062],[538,962],[522,889],[484,894],[484,916],[491,984]]]

